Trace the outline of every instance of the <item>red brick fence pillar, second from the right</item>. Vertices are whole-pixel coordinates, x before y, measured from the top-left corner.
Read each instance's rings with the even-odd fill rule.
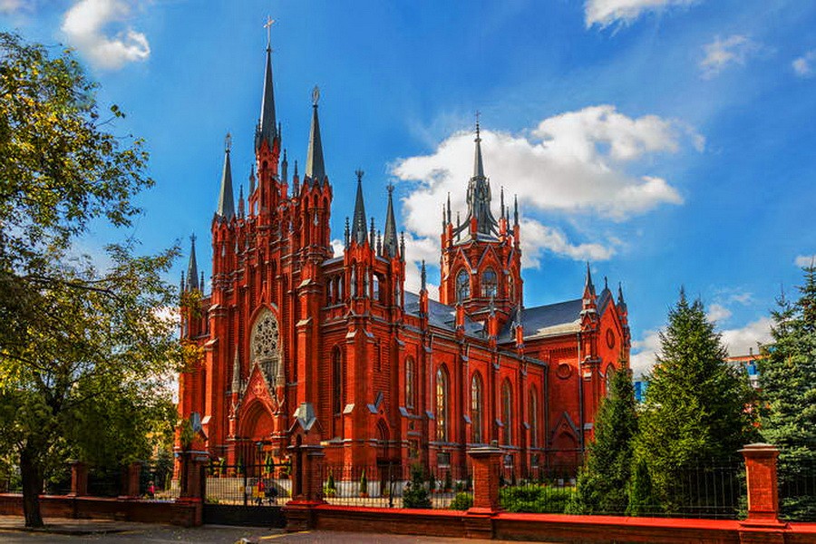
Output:
[[[496,447],[468,450],[473,463],[473,506],[465,519],[471,539],[492,539],[492,516],[500,510],[499,478],[502,452]]]

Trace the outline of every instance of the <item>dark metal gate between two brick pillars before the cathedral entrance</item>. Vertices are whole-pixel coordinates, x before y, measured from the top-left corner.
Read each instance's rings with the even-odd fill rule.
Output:
[[[291,496],[290,465],[227,465],[214,461],[206,469],[204,523],[283,528],[283,505]]]

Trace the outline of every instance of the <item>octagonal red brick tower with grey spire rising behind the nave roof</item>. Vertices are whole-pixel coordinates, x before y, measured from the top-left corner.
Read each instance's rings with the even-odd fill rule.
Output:
[[[473,175],[468,182],[468,215],[456,225],[451,218],[451,199],[442,211],[442,281],[440,302],[463,306],[476,321],[493,315],[503,325],[522,304],[519,207],[515,205],[510,229],[504,189],[500,192],[500,219],[491,210],[491,183],[484,175],[481,134],[476,122]]]

